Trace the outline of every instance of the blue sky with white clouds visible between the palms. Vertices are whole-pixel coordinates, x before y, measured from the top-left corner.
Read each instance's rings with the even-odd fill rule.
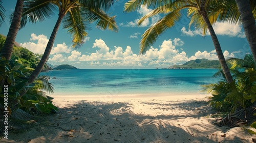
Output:
[[[53,65],[71,64],[78,68],[163,68],[195,59],[218,59],[209,35],[203,37],[193,26],[188,30],[186,11],[175,27],[160,35],[152,48],[139,56],[141,35],[162,15],[156,15],[138,27],[136,21],[151,9],[141,7],[135,12],[124,13],[125,2],[115,2],[107,12],[111,16],[116,15],[119,32],[102,31],[92,23],[86,43],[80,49],[72,49],[71,35],[60,26],[48,62]],[[15,4],[16,1],[3,2],[7,19],[0,27],[1,34],[8,33],[8,17]],[[57,12],[44,22],[29,23],[18,32],[16,41],[34,53],[44,53],[56,20]],[[242,26],[217,22],[214,29],[225,58],[243,58],[250,53]]]

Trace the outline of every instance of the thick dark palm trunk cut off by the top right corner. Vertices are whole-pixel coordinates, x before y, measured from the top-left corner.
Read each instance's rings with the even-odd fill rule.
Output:
[[[245,36],[249,43],[251,54],[256,63],[256,26],[248,0],[236,0],[240,17],[243,23]]]

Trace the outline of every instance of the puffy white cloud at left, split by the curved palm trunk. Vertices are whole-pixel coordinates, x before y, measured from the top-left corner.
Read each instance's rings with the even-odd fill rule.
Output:
[[[37,42],[31,42],[31,41],[37,41]],[[31,38],[29,42],[20,43],[20,46],[26,47],[28,50],[32,51],[33,53],[37,54],[44,54],[46,45],[48,43],[49,39],[47,36],[40,34],[36,35],[34,33],[31,34]],[[62,44],[57,44],[53,47],[51,54],[56,53],[70,53],[71,47],[68,47],[65,42]]]

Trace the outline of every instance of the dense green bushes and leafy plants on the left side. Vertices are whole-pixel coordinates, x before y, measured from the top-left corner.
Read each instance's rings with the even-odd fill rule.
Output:
[[[12,55],[11,60],[0,58],[0,81],[4,81],[0,89],[0,104],[2,105],[0,109],[4,111],[6,107],[5,94],[3,93],[6,88],[8,89],[7,110],[12,118],[32,118],[32,115],[39,112],[50,113],[58,110],[52,104],[53,98],[47,96],[47,92],[53,93],[54,89],[48,81],[48,76],[38,76],[33,84],[26,85],[33,67],[40,60],[36,54],[23,47],[14,46]],[[29,90],[24,96],[20,96],[26,88]]]

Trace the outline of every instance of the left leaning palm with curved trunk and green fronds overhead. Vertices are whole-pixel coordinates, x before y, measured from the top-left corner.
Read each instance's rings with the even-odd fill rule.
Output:
[[[81,46],[84,42],[84,37],[87,36],[86,30],[88,29],[88,24],[95,20],[97,20],[97,28],[117,32],[118,28],[114,19],[115,16],[110,17],[103,11],[108,10],[112,4],[113,0],[26,0],[24,2],[22,28],[28,20],[32,23],[43,21],[50,17],[54,10],[58,11],[58,19],[47,43],[45,53],[30,75],[28,83],[30,84],[35,80],[47,62],[62,20],[63,28],[68,29],[68,32],[73,36],[73,47]]]

